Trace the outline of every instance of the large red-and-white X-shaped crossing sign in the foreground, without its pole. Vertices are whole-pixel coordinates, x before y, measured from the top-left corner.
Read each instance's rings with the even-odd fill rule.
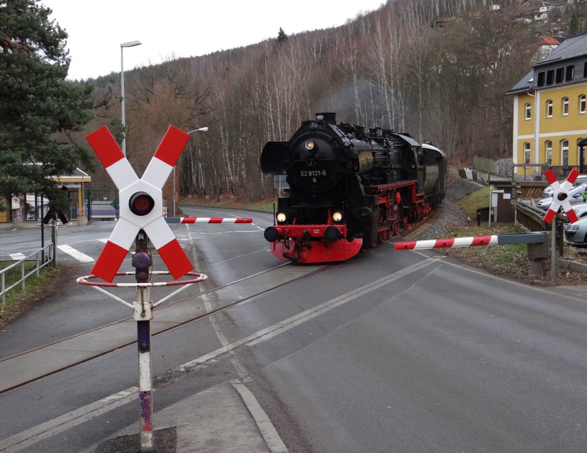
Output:
[[[112,282],[140,229],[149,236],[174,279],[194,269],[163,218],[162,192],[190,135],[169,126],[140,179],[106,126],[86,138],[116,184],[120,200],[120,219],[92,268],[92,274]],[[138,194],[147,194],[154,202],[147,214],[137,215],[131,211],[131,199]]]

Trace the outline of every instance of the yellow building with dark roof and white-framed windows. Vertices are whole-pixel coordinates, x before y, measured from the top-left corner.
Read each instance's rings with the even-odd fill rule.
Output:
[[[578,143],[587,137],[587,33],[567,38],[507,94],[514,96],[514,164],[585,171]],[[529,173],[545,170],[531,167]]]

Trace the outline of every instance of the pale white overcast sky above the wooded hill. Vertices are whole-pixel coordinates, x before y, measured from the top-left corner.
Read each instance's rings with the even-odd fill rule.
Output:
[[[384,0],[42,0],[69,35],[69,79],[87,79],[176,58],[206,55],[276,38],[343,25]]]

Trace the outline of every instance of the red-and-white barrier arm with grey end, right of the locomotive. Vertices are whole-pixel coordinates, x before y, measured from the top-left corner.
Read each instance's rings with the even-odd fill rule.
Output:
[[[467,238],[429,239],[427,241],[396,242],[396,250],[439,249],[450,247],[472,247],[476,245],[538,244],[544,242],[544,233],[500,234],[469,236]]]

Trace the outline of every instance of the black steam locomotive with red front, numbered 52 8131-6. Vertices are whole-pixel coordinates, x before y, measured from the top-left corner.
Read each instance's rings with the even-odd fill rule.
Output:
[[[447,184],[437,147],[336,124],[336,113],[316,113],[288,141],[266,143],[261,170],[289,185],[265,239],[277,258],[301,263],[345,261],[382,244],[437,208]]]

